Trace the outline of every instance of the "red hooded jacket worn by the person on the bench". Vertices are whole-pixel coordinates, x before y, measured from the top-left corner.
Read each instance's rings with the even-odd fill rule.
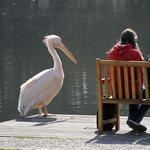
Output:
[[[108,60],[121,60],[121,61],[142,61],[141,54],[138,50],[132,48],[131,44],[127,45],[115,45],[114,48],[110,51]],[[116,90],[116,97],[118,97],[118,78],[117,78],[117,68],[114,67],[115,72],[115,90]],[[144,83],[143,78],[143,68],[141,68],[141,77],[142,77],[142,84]],[[109,67],[109,75],[110,75],[110,67]],[[124,84],[124,71],[121,68],[121,77],[122,77],[122,91],[123,97],[125,97],[125,84]],[[110,76],[111,80],[111,76]],[[129,81],[129,96],[132,97],[132,87],[131,87],[131,73],[130,69],[128,68],[128,81]],[[137,69],[135,68],[135,88],[136,88],[136,95],[139,94],[138,92],[138,80],[137,80]],[[111,82],[110,82],[110,90],[112,94]]]

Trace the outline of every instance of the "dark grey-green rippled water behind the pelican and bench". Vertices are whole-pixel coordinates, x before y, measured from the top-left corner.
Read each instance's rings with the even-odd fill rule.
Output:
[[[53,67],[42,43],[55,34],[73,53],[78,64],[57,50],[65,80],[48,111],[90,114],[97,110],[95,58],[105,54],[120,33],[132,28],[146,58],[150,54],[149,0],[1,0],[0,2],[0,121],[18,118],[20,85],[40,71]],[[32,110],[28,115],[37,114]],[[121,115],[128,106],[121,105]],[[147,114],[149,116],[149,113]]]

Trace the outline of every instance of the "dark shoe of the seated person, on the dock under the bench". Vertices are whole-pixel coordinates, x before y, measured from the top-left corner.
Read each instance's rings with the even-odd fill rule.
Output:
[[[127,125],[135,131],[144,132],[147,130],[144,125],[141,125],[139,122],[132,119],[127,120]]]

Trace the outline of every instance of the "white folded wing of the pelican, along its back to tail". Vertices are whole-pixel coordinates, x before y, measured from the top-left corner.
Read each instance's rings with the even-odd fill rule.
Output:
[[[18,111],[24,114],[25,109],[29,109],[36,99],[53,81],[55,77],[54,69],[47,69],[29,79],[21,85]]]

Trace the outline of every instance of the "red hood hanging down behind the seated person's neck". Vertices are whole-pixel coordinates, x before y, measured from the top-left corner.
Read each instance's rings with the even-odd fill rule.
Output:
[[[125,52],[127,52],[131,48],[132,48],[131,44],[127,44],[127,45],[119,45],[119,44],[117,44],[114,47],[114,51],[115,51],[115,54],[122,55],[122,54],[124,54]]]

